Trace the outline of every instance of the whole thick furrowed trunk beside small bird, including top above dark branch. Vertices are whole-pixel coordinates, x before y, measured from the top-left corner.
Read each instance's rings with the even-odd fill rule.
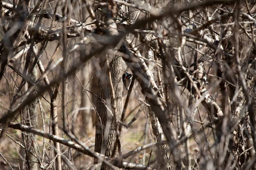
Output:
[[[108,3],[109,1],[105,1]],[[109,3],[112,11],[109,11],[110,6],[102,6],[102,12],[105,16],[105,22],[107,24],[107,33],[111,36],[118,35],[116,23],[113,20],[115,14],[114,8],[116,8],[116,3]],[[111,80],[114,88],[115,97],[111,97],[110,85],[108,83],[108,73],[107,71],[107,59],[110,62],[110,72]],[[105,105],[108,108],[111,108],[111,101],[115,98],[116,106],[115,111],[111,109],[111,112],[107,110],[106,106],[103,104],[102,100],[97,101],[97,118],[96,118],[96,136],[95,136],[95,151],[105,154],[105,156],[117,157],[118,151],[117,147],[113,150],[116,142],[116,131],[118,128],[117,121],[120,121],[122,115],[122,59],[121,57],[109,54],[107,51],[102,52],[100,58],[100,66],[102,68],[102,76],[99,79],[98,83],[98,96],[106,101]],[[116,114],[116,122],[113,119],[113,114]],[[121,137],[119,137],[120,143],[122,142]],[[121,149],[122,146],[119,146]],[[120,151],[120,150],[119,150]],[[94,162],[97,162],[94,159]],[[103,165],[102,169],[109,169],[107,166]]]

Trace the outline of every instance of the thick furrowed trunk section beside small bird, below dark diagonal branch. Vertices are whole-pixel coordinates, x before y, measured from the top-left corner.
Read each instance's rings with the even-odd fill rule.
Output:
[[[116,118],[120,120],[121,113],[122,113],[122,77],[121,77],[121,57],[114,56],[112,57],[111,54],[102,53],[101,54],[101,61],[100,65],[102,68],[102,74],[99,78],[98,83],[98,96],[106,101],[102,101],[98,99],[97,101],[97,118],[96,118],[96,136],[95,136],[95,151],[98,153],[105,154],[105,156],[113,157],[118,156],[117,149],[113,150],[115,141],[116,141],[116,132],[115,132],[115,122],[113,120],[113,116],[108,111],[108,108],[111,108],[111,95],[110,89],[107,82],[107,74],[106,74],[106,57],[108,57],[110,62],[110,70],[111,70],[111,77],[112,83],[115,91],[116,96],[116,110],[117,115]],[[112,58],[112,59],[111,59]],[[106,106],[105,106],[106,104]],[[114,152],[114,154],[112,154]],[[95,162],[97,160],[95,159]],[[107,167],[102,167],[102,169],[108,169]]]

